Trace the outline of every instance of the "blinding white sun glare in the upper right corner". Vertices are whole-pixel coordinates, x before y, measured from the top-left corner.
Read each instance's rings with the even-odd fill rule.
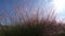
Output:
[[[65,0],[53,0],[53,3],[57,13],[64,10]]]

